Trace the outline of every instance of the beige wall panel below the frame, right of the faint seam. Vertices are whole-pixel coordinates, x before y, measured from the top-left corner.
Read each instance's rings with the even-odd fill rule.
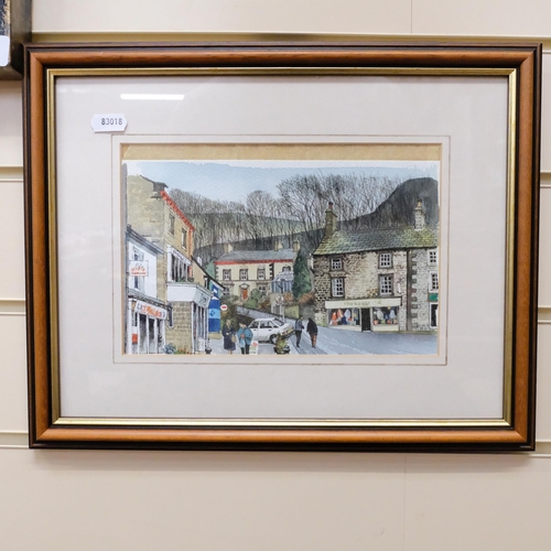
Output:
[[[404,550],[549,549],[549,458],[412,455],[406,468]]]

